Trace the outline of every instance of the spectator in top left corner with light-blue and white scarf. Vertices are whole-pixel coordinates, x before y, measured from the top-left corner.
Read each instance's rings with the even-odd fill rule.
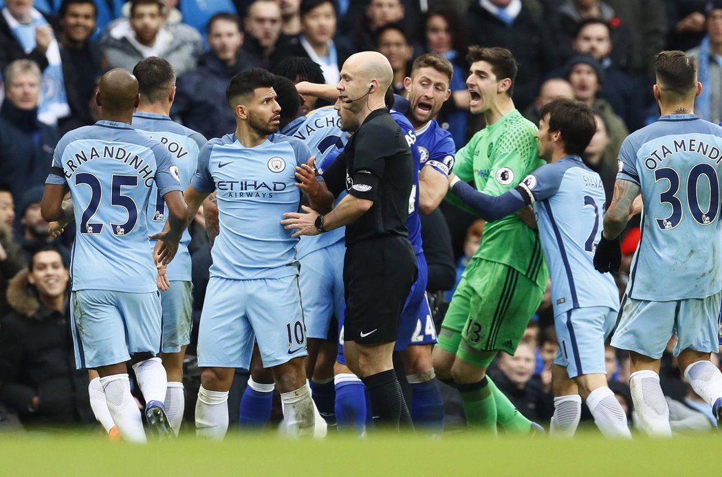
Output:
[[[35,61],[42,71],[43,99],[38,118],[49,125],[70,115],[64,81],[64,64],[51,19],[30,0],[7,0],[0,14],[0,68],[18,59]]]

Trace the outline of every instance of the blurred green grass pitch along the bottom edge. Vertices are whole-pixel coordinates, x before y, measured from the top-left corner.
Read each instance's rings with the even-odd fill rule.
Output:
[[[330,435],[288,440],[266,433],[224,442],[188,435],[129,445],[88,434],[0,434],[0,476],[716,476],[722,434],[669,440],[573,440],[451,434]]]

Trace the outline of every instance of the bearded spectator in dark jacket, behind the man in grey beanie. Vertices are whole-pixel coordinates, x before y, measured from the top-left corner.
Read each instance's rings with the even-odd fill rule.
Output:
[[[599,97],[606,99],[612,110],[625,120],[627,129],[635,131],[641,128],[647,106],[645,92],[638,76],[630,76],[612,64],[609,25],[598,18],[583,20],[572,48],[575,53],[591,55],[599,61],[604,69],[604,83],[599,90]]]

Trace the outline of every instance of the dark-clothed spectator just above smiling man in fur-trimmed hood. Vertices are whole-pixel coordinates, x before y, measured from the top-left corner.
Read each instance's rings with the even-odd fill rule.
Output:
[[[58,236],[53,239],[50,234],[49,225],[40,215],[40,200],[43,198],[43,185],[30,187],[22,196],[22,202],[17,209],[20,218],[19,243],[22,251],[25,252],[27,262],[38,253],[38,250],[53,246],[64,262],[70,262],[70,250],[64,246],[64,237]]]

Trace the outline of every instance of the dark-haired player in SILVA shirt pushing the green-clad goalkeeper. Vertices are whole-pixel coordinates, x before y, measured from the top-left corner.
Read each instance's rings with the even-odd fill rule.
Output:
[[[617,319],[619,292],[611,275],[600,275],[593,267],[604,187],[580,157],[596,121],[585,104],[572,99],[555,99],[541,107],[540,114],[539,157],[550,164],[499,197],[484,195],[458,177],[452,178],[450,188],[486,220],[534,206],[552,272],[554,328],[560,343],[552,367],[551,435],[573,436],[584,398],[604,435],[631,437],[625,411],[606,385],[604,364],[604,340]]]

